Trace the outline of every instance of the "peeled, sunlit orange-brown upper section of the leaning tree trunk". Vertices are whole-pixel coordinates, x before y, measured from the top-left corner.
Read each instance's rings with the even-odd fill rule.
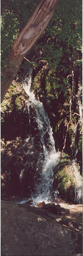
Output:
[[[58,0],[41,0],[14,42],[13,50],[15,56],[18,54],[24,55],[31,49],[45,30],[54,13],[57,2]]]

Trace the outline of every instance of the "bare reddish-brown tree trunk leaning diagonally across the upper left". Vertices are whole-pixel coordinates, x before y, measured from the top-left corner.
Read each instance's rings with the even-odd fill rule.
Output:
[[[58,0],[41,0],[14,41],[8,56],[7,67],[1,73],[1,102],[16,76],[24,56],[48,25],[57,2]]]

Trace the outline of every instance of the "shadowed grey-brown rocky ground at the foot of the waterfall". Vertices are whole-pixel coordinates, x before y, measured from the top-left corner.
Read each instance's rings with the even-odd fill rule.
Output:
[[[82,205],[53,205],[1,201],[1,256],[82,256]]]

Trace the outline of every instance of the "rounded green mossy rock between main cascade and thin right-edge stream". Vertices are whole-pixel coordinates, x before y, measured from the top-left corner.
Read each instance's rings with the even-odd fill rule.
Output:
[[[57,177],[57,178],[56,178]],[[62,159],[57,176],[57,167],[55,170],[55,188],[57,188],[62,199],[74,203],[75,198],[75,177],[74,170],[71,165],[69,155],[62,154]]]

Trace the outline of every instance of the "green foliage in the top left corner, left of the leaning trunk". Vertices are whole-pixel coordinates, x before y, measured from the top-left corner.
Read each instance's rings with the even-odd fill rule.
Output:
[[[1,16],[1,62],[7,58],[17,34],[28,21],[39,0],[14,0]]]

